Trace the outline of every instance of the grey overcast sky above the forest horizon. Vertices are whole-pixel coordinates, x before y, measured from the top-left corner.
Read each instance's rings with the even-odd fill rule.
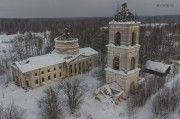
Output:
[[[180,15],[180,0],[0,0],[0,18],[111,17],[118,1],[139,16]]]

